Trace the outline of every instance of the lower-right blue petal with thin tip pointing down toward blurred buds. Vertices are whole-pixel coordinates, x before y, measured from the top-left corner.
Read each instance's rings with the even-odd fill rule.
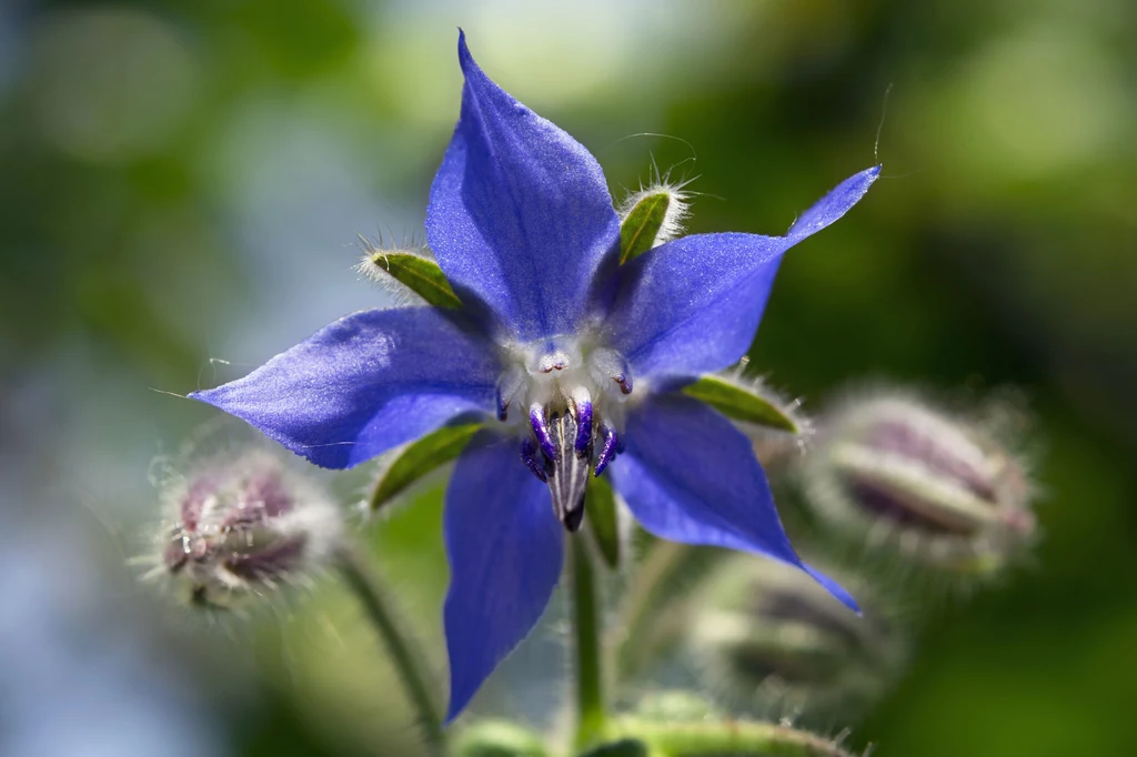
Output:
[[[631,413],[623,440],[613,485],[648,532],[795,565],[856,609],[794,551],[749,440],[727,418],[689,397],[659,394]]]

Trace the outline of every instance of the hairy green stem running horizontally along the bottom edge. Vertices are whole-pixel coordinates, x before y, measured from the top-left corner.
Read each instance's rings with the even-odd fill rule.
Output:
[[[723,721],[654,723],[617,721],[615,731],[637,739],[661,757],[849,757],[830,739],[773,723]]]

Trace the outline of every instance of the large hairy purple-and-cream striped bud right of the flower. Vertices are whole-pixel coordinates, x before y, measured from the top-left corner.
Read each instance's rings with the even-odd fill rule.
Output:
[[[803,480],[822,521],[960,575],[991,573],[1035,533],[1023,464],[980,424],[905,396],[824,416]]]

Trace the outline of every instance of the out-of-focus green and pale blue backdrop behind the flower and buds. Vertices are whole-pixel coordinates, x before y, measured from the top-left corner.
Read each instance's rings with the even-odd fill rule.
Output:
[[[459,25],[617,197],[652,156],[697,175],[694,231],[782,232],[873,163],[893,85],[885,177],[788,256],[753,359],[807,407],[882,377],[1029,407],[1044,539],[940,602],[853,741],[1137,754],[1130,0],[0,2],[0,754],[416,754],[334,582],[210,624],[127,563],[151,458],[213,415],[160,392],[388,301],[356,233],[422,232]],[[439,491],[366,532],[438,652]],[[551,706],[555,625],[483,712]]]

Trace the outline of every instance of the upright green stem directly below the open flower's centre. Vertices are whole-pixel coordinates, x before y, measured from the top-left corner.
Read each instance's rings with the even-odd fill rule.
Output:
[[[607,729],[604,708],[604,677],[600,648],[600,608],[596,574],[588,543],[580,534],[572,543],[573,626],[576,639],[576,740],[578,750],[604,739]]]

